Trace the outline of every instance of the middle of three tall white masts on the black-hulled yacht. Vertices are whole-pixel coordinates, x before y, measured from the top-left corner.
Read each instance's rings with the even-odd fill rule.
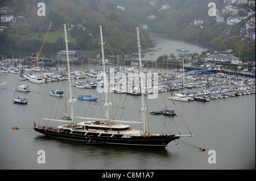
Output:
[[[102,37],[102,26],[100,26],[100,34],[101,34],[101,52],[102,52],[102,65],[103,65],[103,79],[104,79],[104,92],[105,92],[105,108],[106,108],[106,121],[109,124],[109,101],[108,101],[108,87],[106,80],[106,68],[105,68],[105,58],[104,58],[104,43]]]

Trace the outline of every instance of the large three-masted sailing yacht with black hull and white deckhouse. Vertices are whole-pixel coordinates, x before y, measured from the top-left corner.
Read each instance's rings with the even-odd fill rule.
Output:
[[[113,104],[108,100],[107,91],[107,78],[105,70],[105,58],[104,58],[104,43],[102,39],[102,27],[100,26],[101,34],[101,51],[102,51],[102,65],[104,70],[104,92],[105,92],[105,104],[106,108],[106,118],[92,118],[92,117],[79,117],[77,119],[82,119],[80,123],[75,124],[73,119],[73,103],[76,101],[72,98],[71,91],[71,74],[69,69],[69,56],[68,56],[68,41],[67,41],[67,31],[65,30],[65,42],[67,50],[67,62],[68,62],[68,75],[69,75],[69,103],[71,104],[71,121],[55,120],[55,119],[43,119],[49,121],[60,121],[66,124],[60,125],[57,128],[40,127],[34,125],[34,130],[36,132],[45,134],[47,136],[63,138],[67,140],[85,141],[95,140],[97,142],[105,142],[105,144],[115,144],[115,145],[129,145],[129,146],[149,146],[151,148],[164,148],[169,142],[179,139],[183,136],[193,136],[191,135],[176,135],[176,134],[163,134],[163,133],[150,133],[148,128],[148,121],[146,120],[145,111],[147,108],[144,104],[144,82],[141,81],[141,98],[142,98],[142,121],[125,121],[125,120],[110,120],[109,116],[109,106]],[[137,28],[137,38],[138,38],[138,50],[139,50],[139,66],[142,73],[142,61],[141,61],[141,45],[139,41],[139,28]],[[141,76],[143,78],[143,76]],[[123,124],[125,123],[125,124]],[[131,128],[130,124],[142,124],[143,131]]]

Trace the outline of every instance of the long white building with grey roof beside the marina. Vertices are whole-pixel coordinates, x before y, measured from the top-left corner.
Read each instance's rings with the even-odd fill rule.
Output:
[[[230,62],[231,64],[242,64],[242,61],[238,57],[226,54],[213,54],[206,58],[210,62]]]

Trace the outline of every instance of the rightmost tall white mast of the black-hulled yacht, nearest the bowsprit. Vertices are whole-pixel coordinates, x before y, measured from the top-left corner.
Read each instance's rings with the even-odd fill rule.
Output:
[[[144,77],[142,73],[142,61],[141,61],[141,43],[139,41],[139,28],[137,27],[137,39],[138,39],[138,51],[139,51],[139,69],[140,69],[140,74],[141,74],[141,98],[142,98],[142,120],[143,120],[143,132],[144,134],[148,134],[148,121],[146,120],[146,107],[145,107],[145,100],[144,100],[144,92],[145,92],[145,86],[144,86]]]

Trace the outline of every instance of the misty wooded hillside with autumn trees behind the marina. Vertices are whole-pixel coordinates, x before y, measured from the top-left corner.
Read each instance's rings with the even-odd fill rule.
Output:
[[[14,14],[26,16],[28,23],[0,32],[0,41],[3,45],[0,46],[0,54],[10,51],[36,53],[50,22],[53,21],[49,39],[44,45],[44,53],[63,49],[61,42],[63,36],[53,32],[63,32],[64,23],[68,24],[68,28],[71,24],[82,24],[86,30],[93,32],[92,35],[88,35],[86,30],[78,27],[74,27],[69,32],[71,47],[76,50],[100,49],[98,25],[102,25],[106,53],[135,52],[137,48],[134,27],[147,24],[148,32],[163,33],[191,43],[208,45],[218,51],[234,49],[234,55],[240,55],[241,60],[255,60],[255,44],[247,45],[240,37],[240,29],[245,24],[245,20],[232,26],[232,34],[225,35],[223,31],[226,24],[216,23],[216,17],[207,13],[210,8],[209,1],[155,0],[155,5],[151,5],[148,0],[44,0],[43,2],[46,4],[46,16],[36,14],[37,0],[1,1],[1,5],[11,7]],[[222,0],[210,2],[216,3],[218,10],[224,7]],[[169,9],[159,11],[164,4],[170,5]],[[126,11],[117,9],[116,6],[125,6]],[[242,13],[241,11],[238,14],[242,15]],[[147,18],[150,14],[155,14],[156,20]],[[227,16],[224,15],[224,19]],[[203,28],[193,25],[196,19],[204,20]],[[150,46],[148,32],[144,30],[142,32],[143,39],[146,40],[146,43],[141,41],[142,48],[147,48]]]

